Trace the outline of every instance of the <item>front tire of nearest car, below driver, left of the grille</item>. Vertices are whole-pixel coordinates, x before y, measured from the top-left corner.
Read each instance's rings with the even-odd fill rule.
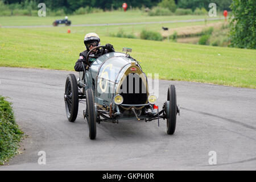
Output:
[[[86,119],[89,125],[89,138],[96,138],[96,112],[94,107],[94,96],[92,89],[87,89],[86,94]]]

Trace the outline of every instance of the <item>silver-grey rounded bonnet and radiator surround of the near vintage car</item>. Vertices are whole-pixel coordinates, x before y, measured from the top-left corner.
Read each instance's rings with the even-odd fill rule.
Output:
[[[80,80],[82,73],[80,72]],[[98,105],[109,106],[130,73],[140,77],[141,85],[145,88],[144,92],[148,96],[146,75],[142,72],[136,60],[121,52],[106,53],[94,60],[90,69],[86,71],[87,88],[94,89],[94,100]],[[138,109],[141,107],[138,107]],[[124,108],[129,109],[130,107]]]

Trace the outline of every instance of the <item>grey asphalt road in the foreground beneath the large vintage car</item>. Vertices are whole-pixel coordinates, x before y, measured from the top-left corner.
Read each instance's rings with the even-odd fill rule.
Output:
[[[89,139],[82,118],[67,120],[63,100],[67,71],[0,68],[0,94],[13,102],[16,122],[28,135],[22,154],[0,170],[255,170],[256,90],[160,80],[158,104],[175,84],[181,115],[174,135],[166,120],[97,124]],[[73,72],[75,73],[75,72]],[[39,151],[46,164],[39,165]],[[210,151],[217,164],[210,165]]]

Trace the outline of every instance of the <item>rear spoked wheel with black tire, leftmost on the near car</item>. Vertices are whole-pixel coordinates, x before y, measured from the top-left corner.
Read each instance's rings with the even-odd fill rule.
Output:
[[[64,101],[68,121],[74,122],[79,108],[78,86],[76,76],[74,74],[69,74],[67,77]]]

